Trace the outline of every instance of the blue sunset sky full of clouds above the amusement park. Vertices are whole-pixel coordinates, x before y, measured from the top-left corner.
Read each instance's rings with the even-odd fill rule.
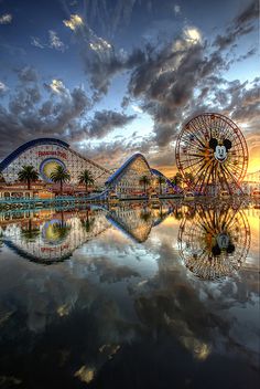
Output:
[[[0,0],[0,160],[51,136],[171,177],[182,126],[217,112],[259,170],[259,0]]]

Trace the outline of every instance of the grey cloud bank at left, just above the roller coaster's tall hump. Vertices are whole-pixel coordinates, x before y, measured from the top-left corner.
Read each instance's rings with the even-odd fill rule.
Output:
[[[43,98],[41,87],[32,83],[24,70],[19,76],[21,86],[10,95],[7,107],[0,106],[1,157],[6,157],[15,146],[36,137],[66,139],[78,128],[80,117],[90,107],[90,101],[80,87],[69,91],[61,81],[53,80],[48,87],[45,86],[50,96]]]

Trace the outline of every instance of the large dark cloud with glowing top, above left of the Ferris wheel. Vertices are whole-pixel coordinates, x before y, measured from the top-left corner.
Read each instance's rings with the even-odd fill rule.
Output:
[[[196,29],[186,30],[174,43],[147,54],[145,62],[131,74],[129,94],[142,98],[141,108],[153,117],[154,141],[160,147],[166,146],[177,133],[203,74],[206,76],[212,67],[216,71],[223,65],[218,57],[205,57],[198,38]]]

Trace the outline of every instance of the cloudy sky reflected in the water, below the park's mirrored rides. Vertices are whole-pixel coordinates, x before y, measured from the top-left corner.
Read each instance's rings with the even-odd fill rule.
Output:
[[[68,261],[47,267],[21,261],[3,246],[0,328],[14,345],[4,356],[10,365],[19,359],[19,345],[26,362],[35,356],[31,371],[59,366],[72,379],[94,383],[111,368],[108,360],[121,366],[126,353],[138,355],[140,346],[145,364],[171,345],[191,371],[193,360],[209,364],[216,355],[257,367],[257,272],[243,269],[223,282],[202,282],[178,259],[177,230],[170,215],[140,244],[110,228]],[[156,340],[151,350],[145,339]],[[43,365],[41,353],[47,356]],[[134,364],[132,358],[129,370]]]

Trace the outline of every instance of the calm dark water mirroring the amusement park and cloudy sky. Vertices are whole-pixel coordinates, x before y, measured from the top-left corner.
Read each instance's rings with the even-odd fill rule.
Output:
[[[0,387],[257,388],[259,208],[0,213]]]

